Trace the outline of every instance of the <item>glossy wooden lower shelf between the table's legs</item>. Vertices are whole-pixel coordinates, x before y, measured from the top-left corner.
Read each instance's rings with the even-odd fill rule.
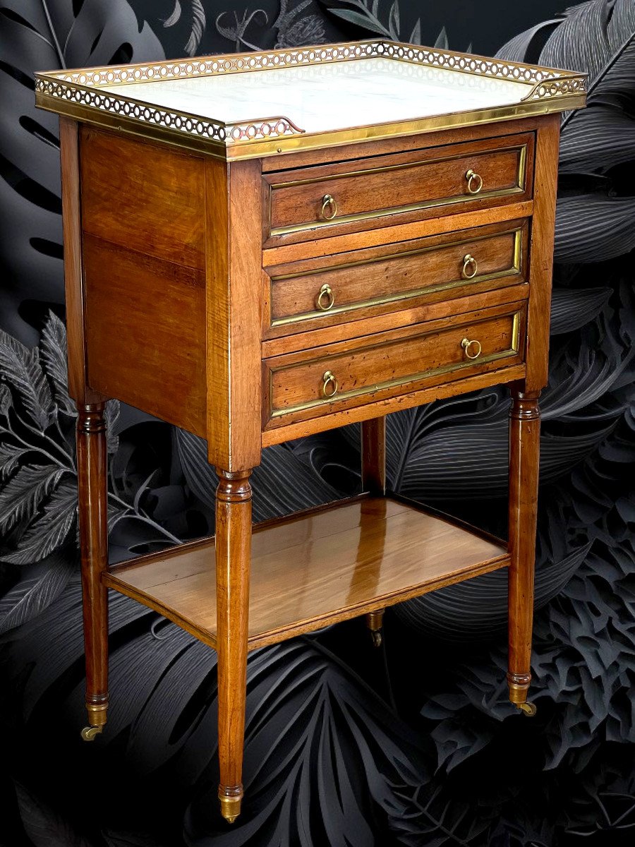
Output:
[[[262,524],[252,537],[249,648],[508,564],[505,545],[390,498],[357,497]],[[213,538],[124,562],[103,579],[216,646]]]

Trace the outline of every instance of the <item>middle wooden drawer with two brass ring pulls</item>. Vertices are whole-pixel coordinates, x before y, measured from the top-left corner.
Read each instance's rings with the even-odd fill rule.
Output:
[[[511,221],[267,268],[264,337],[518,285],[527,233]]]

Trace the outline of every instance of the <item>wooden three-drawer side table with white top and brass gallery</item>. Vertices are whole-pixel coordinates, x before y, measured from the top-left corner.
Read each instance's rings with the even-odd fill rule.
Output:
[[[248,650],[362,615],[378,640],[386,606],[498,567],[510,698],[533,714],[559,122],[584,97],[583,75],[384,40],[37,75],[61,115],[84,738],[106,722],[112,588],[218,651],[234,821]],[[384,470],[388,412],[500,384],[508,544]],[[109,397],[207,439],[214,538],[108,567]],[[357,421],[366,493],[252,528],[262,448]]]

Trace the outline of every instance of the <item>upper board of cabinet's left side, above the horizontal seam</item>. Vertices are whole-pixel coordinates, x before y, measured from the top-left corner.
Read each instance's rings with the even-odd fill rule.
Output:
[[[85,232],[190,268],[205,267],[203,159],[83,128]]]

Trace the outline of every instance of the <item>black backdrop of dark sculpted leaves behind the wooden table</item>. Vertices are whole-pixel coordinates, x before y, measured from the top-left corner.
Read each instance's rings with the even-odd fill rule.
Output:
[[[505,574],[251,656],[248,802],[218,817],[213,651],[111,598],[108,732],[83,745],[75,412],[57,120],[35,69],[402,41],[587,71],[560,147],[533,722],[505,703]],[[635,835],[635,3],[0,0],[0,845],[612,847]],[[502,45],[502,46],[501,46]],[[389,419],[403,494],[505,533],[503,390]],[[204,446],[111,402],[111,549],[213,531]],[[359,433],[265,451],[257,519],[359,486]]]

